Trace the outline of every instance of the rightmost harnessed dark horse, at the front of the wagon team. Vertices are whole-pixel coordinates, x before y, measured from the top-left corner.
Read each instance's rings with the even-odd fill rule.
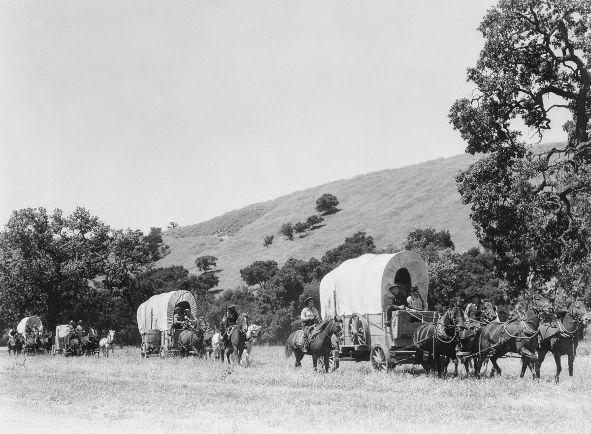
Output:
[[[548,351],[554,354],[556,362],[556,376],[554,381],[560,380],[560,358],[563,355],[569,357],[569,376],[573,376],[573,362],[577,355],[579,345],[579,329],[583,328],[582,317],[587,309],[580,301],[570,304],[567,311],[561,312],[556,321],[543,322],[540,327],[540,344],[538,344],[538,364],[542,366]]]

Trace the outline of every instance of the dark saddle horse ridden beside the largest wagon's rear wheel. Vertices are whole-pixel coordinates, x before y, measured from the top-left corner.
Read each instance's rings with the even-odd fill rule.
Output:
[[[296,356],[296,368],[299,368],[304,355],[311,354],[314,371],[317,371],[318,359],[323,357],[324,371],[328,372],[330,352],[333,349],[332,336],[340,337],[343,334],[343,325],[340,323],[340,319],[335,315],[334,318],[325,319],[316,327],[314,334],[310,338],[310,353],[304,353],[302,351],[303,344],[298,342],[303,333],[303,330],[298,330],[287,338],[287,341],[285,341],[285,358],[289,358],[293,353]]]

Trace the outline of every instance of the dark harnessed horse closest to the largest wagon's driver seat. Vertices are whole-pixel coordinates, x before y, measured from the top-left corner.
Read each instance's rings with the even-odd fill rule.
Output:
[[[460,334],[466,329],[464,313],[457,306],[452,306],[445,314],[437,319],[437,324],[421,324],[413,335],[415,347],[415,360],[428,372],[433,363],[437,364],[437,376],[447,368],[449,360],[453,360],[457,376],[457,355],[456,345]],[[445,366],[441,358],[447,357]]]

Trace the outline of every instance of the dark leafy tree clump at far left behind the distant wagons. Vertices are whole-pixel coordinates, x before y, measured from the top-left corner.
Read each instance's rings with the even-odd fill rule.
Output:
[[[151,259],[141,231],[112,230],[84,208],[14,211],[0,234],[0,313],[42,315],[53,327],[105,291],[124,296]]]

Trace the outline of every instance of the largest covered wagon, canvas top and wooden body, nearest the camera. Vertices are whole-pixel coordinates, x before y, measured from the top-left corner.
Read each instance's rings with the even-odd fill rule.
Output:
[[[340,360],[371,361],[376,370],[414,361],[413,334],[438,312],[394,311],[388,325],[388,289],[398,283],[404,298],[418,286],[427,300],[429,277],[424,260],[414,252],[363,254],[343,262],[320,282],[320,306],[324,319],[335,314],[343,321],[343,336],[334,351]]]

